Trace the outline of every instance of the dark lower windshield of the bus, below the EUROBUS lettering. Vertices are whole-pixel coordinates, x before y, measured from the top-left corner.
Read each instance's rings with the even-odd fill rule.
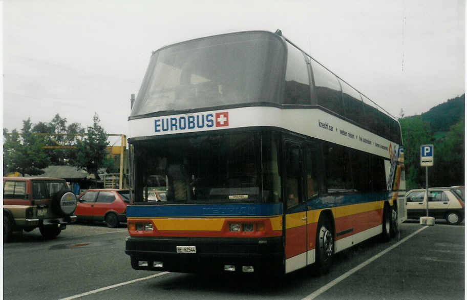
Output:
[[[135,202],[279,202],[278,144],[271,133],[135,142]],[[160,200],[156,192],[163,194]]]

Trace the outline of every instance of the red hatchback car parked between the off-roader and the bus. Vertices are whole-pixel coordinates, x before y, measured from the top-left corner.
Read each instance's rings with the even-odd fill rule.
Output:
[[[130,191],[116,188],[93,188],[78,198],[75,215],[78,220],[105,221],[115,228],[126,222],[126,205],[130,204]]]

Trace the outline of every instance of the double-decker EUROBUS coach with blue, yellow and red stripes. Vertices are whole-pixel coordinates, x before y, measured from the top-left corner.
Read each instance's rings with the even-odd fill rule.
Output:
[[[134,269],[325,273],[406,218],[397,120],[279,30],[153,52],[129,133]]]

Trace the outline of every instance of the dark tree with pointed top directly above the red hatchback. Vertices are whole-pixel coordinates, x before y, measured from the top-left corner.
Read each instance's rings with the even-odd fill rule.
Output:
[[[88,135],[82,141],[77,141],[76,157],[73,159],[73,165],[94,174],[96,179],[99,179],[99,168],[107,167],[110,161],[107,153],[108,135],[99,123],[99,116],[94,113],[93,125],[88,127]]]

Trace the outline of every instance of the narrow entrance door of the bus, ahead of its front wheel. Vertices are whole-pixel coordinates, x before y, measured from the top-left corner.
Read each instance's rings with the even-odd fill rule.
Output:
[[[303,200],[302,148],[287,143],[285,158],[285,272],[307,265],[307,211]]]

